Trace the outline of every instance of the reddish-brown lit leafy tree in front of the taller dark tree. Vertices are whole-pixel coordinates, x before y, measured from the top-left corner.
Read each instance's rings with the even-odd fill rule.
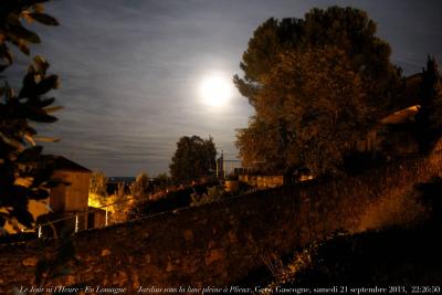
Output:
[[[361,77],[341,50],[287,52],[262,75],[256,114],[238,135],[240,156],[265,160],[273,171],[336,172],[365,135],[364,98]]]

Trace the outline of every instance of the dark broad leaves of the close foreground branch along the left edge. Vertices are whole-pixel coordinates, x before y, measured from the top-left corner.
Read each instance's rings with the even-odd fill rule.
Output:
[[[44,0],[4,0],[0,9],[0,72],[13,63],[10,44],[29,55],[29,44],[40,43],[36,33],[25,29],[22,20],[56,25],[57,21],[43,13]],[[32,122],[53,123],[54,98],[46,94],[59,86],[56,75],[49,75],[49,63],[35,56],[15,93],[2,76],[0,87],[0,226],[18,220],[30,228],[34,222],[28,212],[29,200],[45,199],[48,190],[56,185],[51,180],[52,158],[42,155],[35,141],[54,141],[38,137]]]

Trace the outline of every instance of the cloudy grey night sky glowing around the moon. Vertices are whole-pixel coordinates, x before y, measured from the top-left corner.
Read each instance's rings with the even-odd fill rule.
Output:
[[[62,138],[45,152],[107,176],[167,172],[179,137],[212,136],[235,159],[235,129],[252,108],[235,91],[225,107],[201,103],[212,74],[231,81],[249,39],[267,18],[303,18],[314,7],[364,9],[406,74],[427,54],[442,60],[442,1],[75,0],[46,4],[61,25],[32,28],[32,48],[61,76],[53,92],[60,120],[44,135]],[[19,63],[24,71],[24,63]]]

